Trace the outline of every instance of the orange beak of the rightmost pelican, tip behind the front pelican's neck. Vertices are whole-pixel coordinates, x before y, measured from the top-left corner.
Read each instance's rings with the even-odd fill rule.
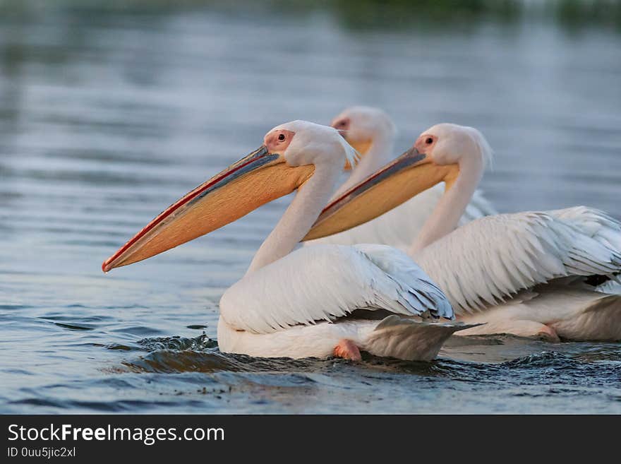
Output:
[[[436,165],[410,148],[328,204],[303,240],[327,237],[373,220],[440,182],[447,182],[448,188],[457,174],[458,165]]]

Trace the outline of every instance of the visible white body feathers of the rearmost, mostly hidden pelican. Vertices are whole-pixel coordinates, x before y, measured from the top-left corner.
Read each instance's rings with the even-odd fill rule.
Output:
[[[379,218],[344,232],[330,235],[330,237],[305,242],[305,245],[381,243],[407,251],[414,237],[418,235],[418,232],[421,232],[423,224],[442,198],[444,190],[443,184],[435,185]],[[483,197],[481,191],[476,191],[464,215],[462,215],[459,225],[464,225],[471,220],[490,214],[496,214],[496,211]]]

